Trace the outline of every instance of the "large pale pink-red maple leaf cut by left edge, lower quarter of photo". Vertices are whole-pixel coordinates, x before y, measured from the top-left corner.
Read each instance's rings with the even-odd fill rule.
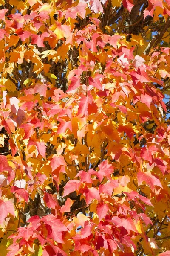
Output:
[[[14,213],[14,204],[12,203],[11,200],[9,201],[3,201],[0,199],[0,224],[3,224],[4,219],[8,216],[8,213],[13,215],[15,217]]]

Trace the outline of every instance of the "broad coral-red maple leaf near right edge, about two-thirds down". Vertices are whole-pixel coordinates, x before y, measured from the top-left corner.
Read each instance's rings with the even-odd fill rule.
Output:
[[[137,179],[139,186],[142,184],[143,181],[145,181],[146,184],[149,185],[152,190],[155,188],[155,186],[159,186],[162,188],[160,180],[153,176],[150,171],[138,172]]]

